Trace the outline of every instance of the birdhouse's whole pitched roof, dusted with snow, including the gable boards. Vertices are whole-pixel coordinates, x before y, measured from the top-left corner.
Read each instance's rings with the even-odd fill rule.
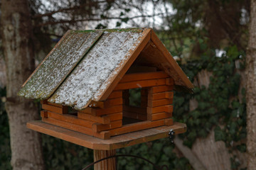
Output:
[[[173,77],[176,86],[192,89],[191,81],[151,28],[68,30],[18,95],[80,110],[91,101],[106,99],[149,44],[159,58],[145,60],[157,62],[156,67]]]

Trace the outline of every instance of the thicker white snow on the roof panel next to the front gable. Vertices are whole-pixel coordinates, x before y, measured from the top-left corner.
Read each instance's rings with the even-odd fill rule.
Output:
[[[48,101],[80,110],[99,99],[141,37],[142,33],[105,31]]]

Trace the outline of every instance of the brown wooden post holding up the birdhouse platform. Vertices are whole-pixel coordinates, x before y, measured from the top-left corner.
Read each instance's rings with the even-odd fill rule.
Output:
[[[116,154],[116,150],[93,150],[94,162],[97,160],[103,159],[105,157],[114,156]],[[105,159],[102,162],[98,162],[94,165],[95,170],[116,170],[116,158]]]

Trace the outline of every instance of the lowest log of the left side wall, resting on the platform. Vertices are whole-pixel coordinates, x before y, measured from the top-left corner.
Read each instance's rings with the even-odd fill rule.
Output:
[[[67,122],[64,122],[62,120],[56,120],[56,119],[53,119],[53,118],[42,118],[42,120],[45,123],[49,123],[49,124],[52,124],[52,125],[57,125],[57,126],[60,126],[62,128],[67,128],[69,130],[74,130],[74,131],[77,131],[77,132],[82,132],[82,133],[85,133],[87,135],[91,135],[93,137],[98,137],[102,140],[110,139],[110,133],[107,132],[107,131],[97,133],[97,132],[93,132],[91,128],[85,128],[81,125],[75,125],[73,123],[67,123]]]

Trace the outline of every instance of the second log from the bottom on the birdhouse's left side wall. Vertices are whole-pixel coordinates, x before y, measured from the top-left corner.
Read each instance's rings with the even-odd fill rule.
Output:
[[[48,118],[53,118],[57,120],[61,120],[68,123],[73,123],[75,125],[81,125],[86,128],[92,128],[92,124],[95,122],[92,122],[90,120],[82,120],[78,118],[75,115],[69,115],[69,114],[58,114],[58,113],[52,113],[48,111]]]

